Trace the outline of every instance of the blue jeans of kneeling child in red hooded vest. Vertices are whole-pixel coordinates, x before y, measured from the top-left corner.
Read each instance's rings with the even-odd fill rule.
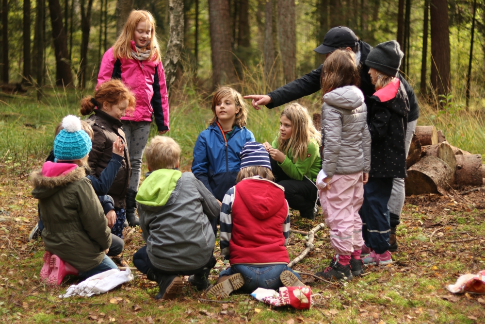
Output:
[[[221,271],[219,277],[241,273],[244,277],[244,286],[238,291],[251,293],[257,288],[278,290],[278,288],[283,287],[279,276],[285,270],[291,271],[300,279],[300,275],[288,268],[286,264],[274,264],[271,266],[235,264],[229,269]]]

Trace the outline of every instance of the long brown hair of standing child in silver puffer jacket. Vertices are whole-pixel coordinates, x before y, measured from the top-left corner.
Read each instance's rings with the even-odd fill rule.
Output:
[[[345,85],[359,85],[360,75],[353,51],[339,49],[325,59],[322,68],[323,94]]]

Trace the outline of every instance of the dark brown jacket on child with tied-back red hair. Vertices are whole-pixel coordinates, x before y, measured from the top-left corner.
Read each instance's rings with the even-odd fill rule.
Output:
[[[101,171],[108,166],[108,161],[113,154],[113,142],[117,136],[121,137],[125,143],[125,156],[121,163],[121,169],[116,174],[113,184],[111,185],[108,195],[113,197],[114,207],[126,207],[126,193],[129,186],[129,177],[131,175],[131,166],[129,164],[128,146],[126,143],[125,133],[121,129],[122,123],[118,119],[111,117],[107,113],[95,109],[95,113],[88,118],[88,122],[93,127],[93,148],[89,153],[89,167],[91,174],[99,178]]]

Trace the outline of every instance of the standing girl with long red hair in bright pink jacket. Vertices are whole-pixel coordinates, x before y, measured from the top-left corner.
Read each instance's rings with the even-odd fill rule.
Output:
[[[160,53],[153,16],[145,10],[133,10],[113,47],[104,53],[97,77],[97,88],[107,80],[120,79],[136,97],[134,112],[121,118],[131,164],[125,205],[130,226],[138,225],[135,197],[152,116],[159,134],[169,130],[167,87]]]

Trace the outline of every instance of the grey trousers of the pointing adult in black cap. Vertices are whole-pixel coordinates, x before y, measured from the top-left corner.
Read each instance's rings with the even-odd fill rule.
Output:
[[[411,140],[413,139],[414,132],[416,131],[416,123],[418,120],[413,120],[407,123],[405,146],[406,146],[406,157],[409,153],[409,147],[411,146]],[[392,192],[389,198],[388,208],[390,213],[390,226],[396,227],[400,223],[401,212],[403,211],[404,205],[404,179],[394,178],[392,182]]]

